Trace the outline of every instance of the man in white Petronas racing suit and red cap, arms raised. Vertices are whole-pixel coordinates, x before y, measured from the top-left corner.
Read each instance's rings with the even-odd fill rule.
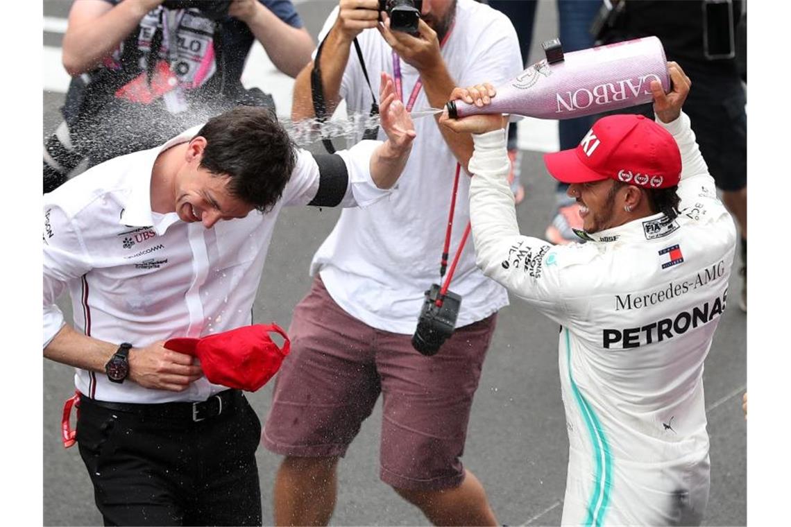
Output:
[[[581,205],[585,244],[519,234],[500,115],[443,117],[475,138],[477,265],[561,325],[562,525],[699,525],[708,502],[703,361],[736,229],[681,112],[691,82],[675,62],[668,71],[670,93],[651,87],[657,122],[611,115],[576,149],[545,156]],[[467,102],[493,95],[491,85],[453,92]]]

